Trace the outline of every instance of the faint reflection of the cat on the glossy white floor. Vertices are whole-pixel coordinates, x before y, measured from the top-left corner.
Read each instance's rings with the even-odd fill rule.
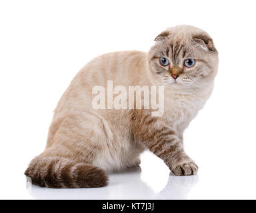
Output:
[[[141,180],[140,167],[109,174],[109,186],[103,188],[41,188],[27,181],[35,199],[186,199],[198,176],[170,175],[159,193]]]

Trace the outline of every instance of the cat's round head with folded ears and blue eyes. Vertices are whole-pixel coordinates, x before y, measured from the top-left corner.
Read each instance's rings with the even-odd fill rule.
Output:
[[[207,86],[217,74],[218,52],[213,39],[197,27],[170,27],[155,38],[149,67],[163,85]]]

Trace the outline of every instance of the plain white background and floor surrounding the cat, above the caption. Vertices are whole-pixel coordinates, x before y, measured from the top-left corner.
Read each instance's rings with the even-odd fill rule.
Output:
[[[256,198],[255,1],[0,1],[0,198]],[[215,90],[185,132],[197,176],[169,176],[153,154],[141,172],[93,189],[28,186],[57,101],[85,63],[148,51],[174,25],[207,31],[219,51]]]

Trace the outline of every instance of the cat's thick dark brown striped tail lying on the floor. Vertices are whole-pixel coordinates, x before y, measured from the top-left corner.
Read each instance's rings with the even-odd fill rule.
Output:
[[[25,171],[33,184],[49,188],[107,186],[107,174],[100,168],[67,158],[37,156]]]

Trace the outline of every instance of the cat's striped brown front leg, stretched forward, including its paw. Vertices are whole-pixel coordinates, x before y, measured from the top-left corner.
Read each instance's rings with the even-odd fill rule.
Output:
[[[184,152],[183,139],[164,120],[151,116],[138,116],[133,120],[133,133],[137,141],[163,159],[175,175],[197,174],[197,164]]]

